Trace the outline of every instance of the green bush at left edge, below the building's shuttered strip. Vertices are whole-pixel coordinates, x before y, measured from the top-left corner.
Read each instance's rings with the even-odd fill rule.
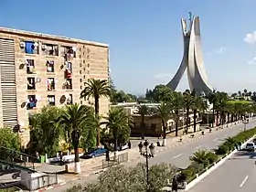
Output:
[[[10,128],[0,129],[0,146],[4,146],[15,151],[20,150],[20,139],[17,133],[13,133]]]

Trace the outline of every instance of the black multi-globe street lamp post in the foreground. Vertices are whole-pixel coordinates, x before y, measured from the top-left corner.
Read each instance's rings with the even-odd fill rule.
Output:
[[[145,166],[146,166],[146,184],[149,187],[149,177],[148,177],[148,159],[154,157],[155,155],[155,145],[149,144],[147,140],[144,143],[138,144],[139,152],[142,156],[145,157]]]

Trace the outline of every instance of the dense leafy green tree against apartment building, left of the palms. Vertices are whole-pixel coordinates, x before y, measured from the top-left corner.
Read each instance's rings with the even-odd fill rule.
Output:
[[[43,107],[42,110],[29,117],[31,127],[30,151],[39,154],[56,155],[59,151],[59,141],[62,129],[56,121],[61,109]]]

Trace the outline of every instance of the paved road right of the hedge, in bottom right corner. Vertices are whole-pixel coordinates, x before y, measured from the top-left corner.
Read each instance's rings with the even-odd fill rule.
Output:
[[[256,153],[238,152],[202,179],[189,192],[256,191]]]

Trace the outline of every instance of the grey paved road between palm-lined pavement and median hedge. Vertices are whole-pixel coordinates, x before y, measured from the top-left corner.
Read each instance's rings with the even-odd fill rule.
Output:
[[[250,123],[247,124],[248,129],[253,128],[256,126],[256,120],[252,120]],[[230,126],[228,128],[224,128],[223,130],[220,129],[219,131],[212,131],[212,133],[208,133],[205,137],[196,140],[191,143],[178,145],[175,148],[167,149],[163,152],[157,153],[154,158],[149,160],[150,165],[160,164],[163,162],[171,163],[181,168],[186,168],[187,165],[190,164],[189,156],[193,155],[199,149],[214,149],[219,144],[223,142],[223,140],[229,136],[233,136],[243,130],[243,124],[239,123],[234,126]],[[137,160],[133,160],[125,165],[134,166],[140,162],[144,162],[144,157],[141,157]],[[91,175],[87,176],[86,178],[81,178],[79,181],[72,182],[74,184],[84,184],[87,182],[92,182],[97,179],[98,175]],[[69,184],[69,186],[72,184]],[[65,191],[67,186],[57,187],[49,192],[60,192]]]

